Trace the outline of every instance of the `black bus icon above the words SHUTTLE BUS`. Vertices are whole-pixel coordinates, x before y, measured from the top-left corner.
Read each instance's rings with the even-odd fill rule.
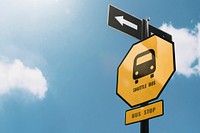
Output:
[[[133,64],[133,79],[135,84],[138,83],[138,79],[146,75],[150,75],[150,78],[154,77],[154,71],[156,70],[156,58],[155,51],[149,49],[138,54],[134,59]]]

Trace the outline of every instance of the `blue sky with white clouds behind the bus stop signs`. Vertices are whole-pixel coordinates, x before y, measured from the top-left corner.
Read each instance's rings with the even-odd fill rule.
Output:
[[[109,4],[173,35],[177,72],[150,132],[199,131],[199,1],[0,0],[0,132],[139,132],[116,95],[117,67],[138,40],[107,25]]]

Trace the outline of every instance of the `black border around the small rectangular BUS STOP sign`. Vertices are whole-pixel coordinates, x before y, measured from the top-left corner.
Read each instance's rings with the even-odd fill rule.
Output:
[[[156,102],[152,102],[152,103],[149,103],[148,105],[151,105],[151,104],[154,104],[154,103],[157,103],[157,102],[160,102],[162,101],[162,114],[161,115],[157,115],[155,117],[151,117],[151,118],[148,118],[148,119],[144,119],[144,120],[150,120],[150,119],[153,119],[153,118],[156,118],[156,117],[159,117],[159,116],[163,116],[164,115],[164,101],[163,100],[159,100],[159,101],[156,101]],[[146,106],[148,106],[146,105]],[[142,107],[145,107],[145,106],[141,106],[141,107],[137,107],[137,108],[133,108],[133,109],[138,109],[138,108],[142,108]],[[133,110],[133,109],[129,109],[129,110],[126,110],[127,111],[130,111],[130,110]],[[144,121],[144,120],[141,120],[141,121]],[[131,124],[134,124],[134,123],[138,123],[138,122],[141,122],[141,121],[135,121],[135,122],[132,122],[132,123],[129,123],[129,124],[126,124],[126,113],[125,113],[125,121],[124,121],[124,124],[125,125],[131,125]]]

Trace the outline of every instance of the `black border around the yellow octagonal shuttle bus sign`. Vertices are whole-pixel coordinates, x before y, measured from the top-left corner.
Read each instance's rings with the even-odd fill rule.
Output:
[[[151,36],[148,37],[148,38],[151,38],[152,36],[157,36],[157,35],[151,35]],[[159,37],[159,36],[157,36],[157,37]],[[146,39],[148,39],[148,38],[146,38]],[[161,37],[159,37],[159,38],[161,38]],[[158,96],[157,96],[156,98],[154,98],[154,99],[151,99],[151,100],[148,100],[148,101],[144,101],[143,103],[139,103],[139,104],[137,104],[137,105],[131,106],[122,96],[120,96],[120,95],[117,93],[117,88],[118,88],[118,76],[119,76],[119,67],[121,66],[121,64],[122,64],[122,62],[125,60],[125,58],[127,57],[127,55],[128,55],[128,53],[130,52],[130,50],[133,48],[133,46],[136,45],[136,44],[138,44],[138,43],[141,43],[142,41],[144,41],[144,40],[146,40],[146,39],[143,39],[143,40],[141,40],[141,41],[139,41],[139,42],[137,42],[137,43],[134,43],[134,44],[131,46],[131,48],[128,50],[128,52],[126,53],[126,55],[124,56],[123,60],[122,60],[121,63],[119,64],[119,66],[117,67],[116,94],[117,94],[125,103],[127,103],[130,107],[136,107],[136,106],[141,105],[141,104],[143,104],[143,103],[150,102],[150,101],[153,101],[153,100],[158,99],[158,97],[160,96],[160,94],[162,93],[162,91],[164,90],[164,88],[165,88],[166,85],[168,84],[169,80],[171,79],[171,77],[173,76],[173,74],[174,74],[175,71],[176,71],[176,61],[175,61],[175,47],[174,47],[174,42],[173,42],[173,41],[168,41],[168,40],[166,40],[166,39],[164,39],[164,38],[161,38],[161,39],[164,39],[165,41],[167,41],[167,42],[169,42],[169,43],[172,44],[172,47],[173,47],[173,59],[174,59],[174,71],[173,71],[172,74],[169,76],[169,79],[168,79],[167,82],[164,84],[164,86],[163,86],[162,90],[160,91],[160,93],[158,94]]]

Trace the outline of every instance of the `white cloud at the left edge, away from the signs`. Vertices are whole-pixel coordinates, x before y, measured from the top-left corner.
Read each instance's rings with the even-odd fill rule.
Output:
[[[0,60],[0,95],[13,90],[26,91],[38,99],[43,99],[47,82],[38,68],[29,68],[19,59],[13,62]]]

